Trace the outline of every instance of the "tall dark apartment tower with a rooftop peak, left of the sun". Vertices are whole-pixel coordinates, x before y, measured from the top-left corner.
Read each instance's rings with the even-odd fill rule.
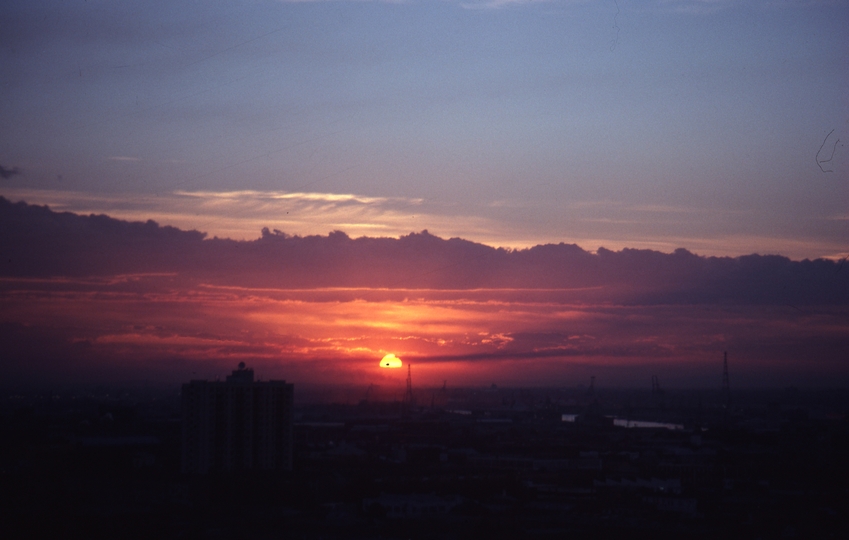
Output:
[[[182,471],[292,470],[294,385],[254,381],[239,368],[221,381],[183,385]]]

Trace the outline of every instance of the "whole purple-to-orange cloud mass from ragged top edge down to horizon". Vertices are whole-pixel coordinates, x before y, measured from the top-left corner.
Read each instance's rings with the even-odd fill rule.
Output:
[[[698,385],[729,350],[751,384],[765,370],[820,384],[846,380],[847,317],[849,274],[829,260],[507,250],[427,231],[235,241],[0,198],[9,381],[177,382],[239,361],[368,381],[392,353],[435,384],[551,384],[587,366],[628,384],[654,366]]]

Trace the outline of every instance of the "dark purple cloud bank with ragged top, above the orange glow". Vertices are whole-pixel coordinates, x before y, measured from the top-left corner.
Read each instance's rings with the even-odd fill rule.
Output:
[[[701,257],[685,249],[590,253],[569,244],[507,250],[427,231],[352,239],[264,229],[257,240],[233,241],[2,197],[0,257],[0,275],[19,278],[173,272],[248,287],[565,288],[637,304],[849,305],[849,268],[829,260]]]

